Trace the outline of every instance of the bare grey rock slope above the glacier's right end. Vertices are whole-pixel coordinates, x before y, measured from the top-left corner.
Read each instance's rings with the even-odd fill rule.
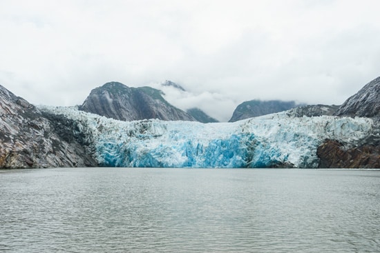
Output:
[[[337,110],[338,116],[380,119],[380,77],[367,83]]]

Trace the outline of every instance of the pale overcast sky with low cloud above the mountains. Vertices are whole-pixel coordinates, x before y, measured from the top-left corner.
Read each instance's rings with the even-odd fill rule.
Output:
[[[380,75],[378,0],[1,0],[0,84],[81,104],[108,81],[171,80],[227,121],[251,99],[341,104]],[[156,85],[157,86],[157,85]]]

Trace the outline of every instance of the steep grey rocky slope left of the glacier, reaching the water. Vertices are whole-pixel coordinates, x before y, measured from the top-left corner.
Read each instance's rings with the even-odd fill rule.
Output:
[[[85,143],[75,137],[77,123],[44,117],[34,105],[0,85],[0,168],[95,166]],[[57,117],[57,116],[55,116]],[[64,128],[69,129],[64,131]]]

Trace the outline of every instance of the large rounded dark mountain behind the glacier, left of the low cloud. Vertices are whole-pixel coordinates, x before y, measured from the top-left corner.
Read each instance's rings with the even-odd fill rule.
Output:
[[[189,114],[168,103],[162,95],[162,91],[154,88],[129,88],[122,83],[111,82],[92,90],[80,110],[122,121],[195,121]]]

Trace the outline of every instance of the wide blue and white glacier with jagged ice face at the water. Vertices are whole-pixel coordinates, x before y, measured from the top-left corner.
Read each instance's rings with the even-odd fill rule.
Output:
[[[355,145],[374,128],[368,118],[293,117],[287,112],[234,123],[117,121],[77,108],[39,105],[77,121],[104,167],[317,168],[325,139]]]

